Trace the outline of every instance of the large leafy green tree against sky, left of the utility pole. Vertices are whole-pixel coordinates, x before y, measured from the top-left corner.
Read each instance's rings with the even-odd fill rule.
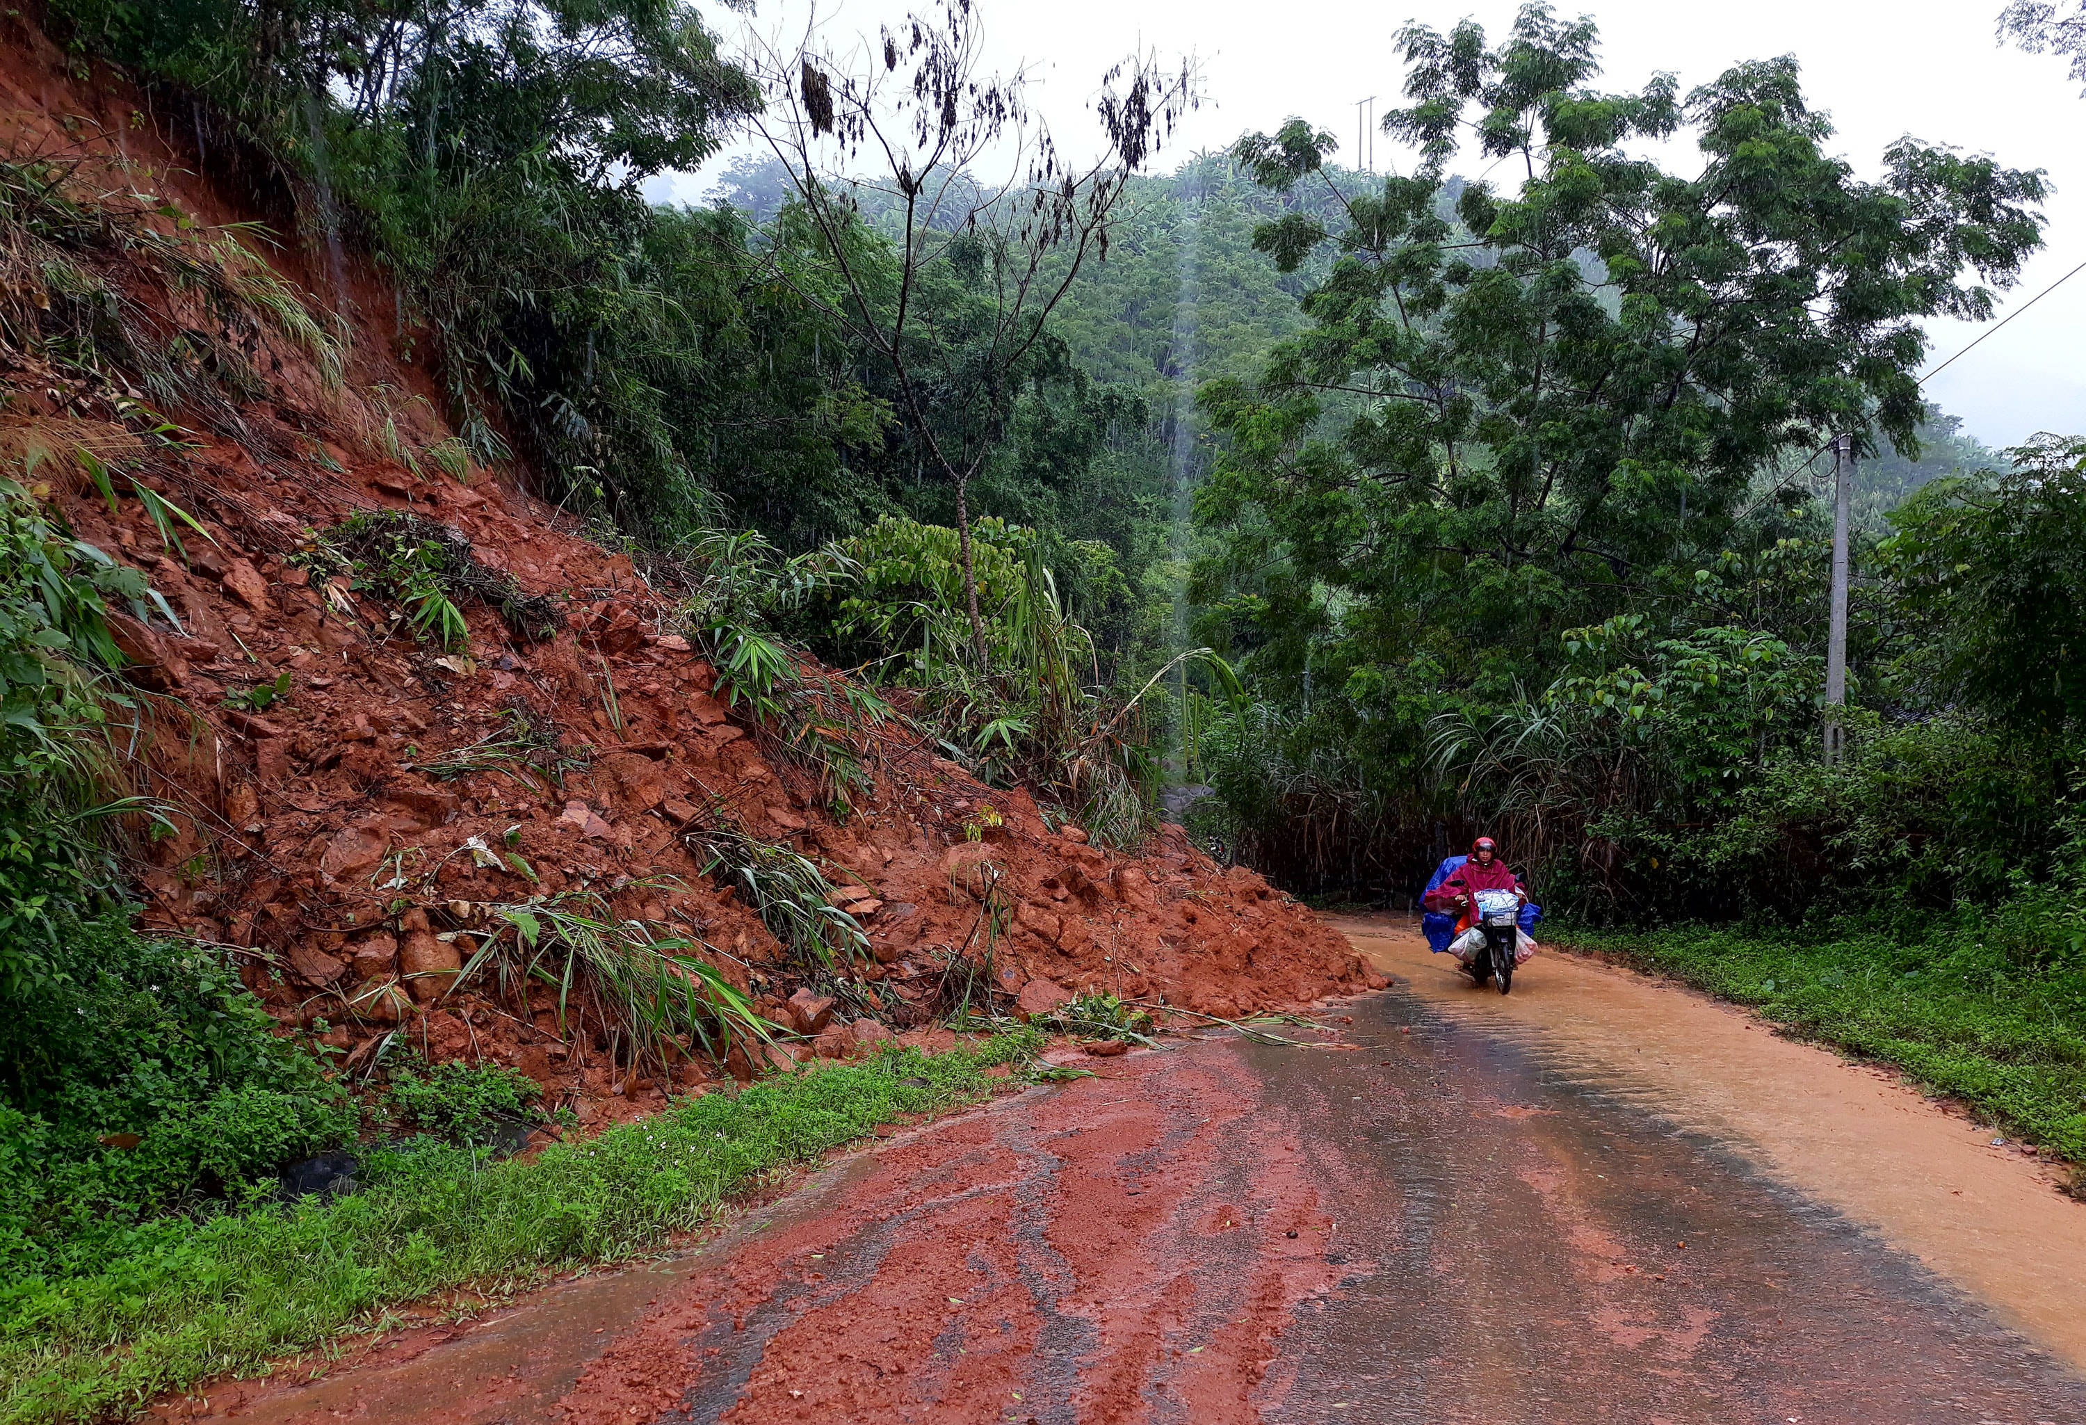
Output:
[[[1337,232],[1256,234],[1283,267],[1337,261],[1258,380],[1204,388],[1224,449],[1197,511],[1229,538],[1214,632],[1272,697],[1314,682],[1325,734],[1410,795],[1439,711],[1546,686],[1567,628],[1679,628],[1698,565],[1786,534],[1804,494],[1777,469],[1844,430],[1917,455],[1919,321],[1990,315],[2044,184],[1915,140],[1859,179],[1786,58],[1602,92],[1594,25],[1544,6],[1498,46],[1473,23],[1402,46],[1385,129],[1425,161]],[[1683,131],[1690,175],[1631,152]],[[1466,140],[1504,190],[1446,175]],[[1329,148],[1291,121],[1235,152],[1293,188]]]

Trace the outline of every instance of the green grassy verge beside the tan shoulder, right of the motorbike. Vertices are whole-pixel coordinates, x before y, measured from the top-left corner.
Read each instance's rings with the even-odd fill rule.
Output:
[[[1792,1031],[1905,1068],[2013,1135],[2086,1164],[2086,972],[2017,966],[1975,931],[1763,933],[1713,926],[1554,933]]]

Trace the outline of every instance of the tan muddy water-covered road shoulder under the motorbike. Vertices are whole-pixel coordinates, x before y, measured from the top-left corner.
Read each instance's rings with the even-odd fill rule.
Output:
[[[1471,987],[1402,916],[1329,916],[1383,974],[1454,1018],[1742,1154],[1873,1229],[2086,1371],[2086,1208],[2030,1158],[1898,1074],[1773,1033],[1679,985],[1544,953],[1512,995]]]

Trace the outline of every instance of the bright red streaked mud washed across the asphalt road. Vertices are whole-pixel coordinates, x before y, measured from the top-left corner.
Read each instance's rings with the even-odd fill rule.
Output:
[[[884,1150],[834,1210],[655,1302],[565,1419],[1256,1419],[1333,1269],[1293,1154],[1227,1154],[1272,1106],[1212,1049]]]

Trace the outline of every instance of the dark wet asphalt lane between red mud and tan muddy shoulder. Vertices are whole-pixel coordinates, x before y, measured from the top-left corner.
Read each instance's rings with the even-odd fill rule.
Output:
[[[1350,1039],[1237,1049],[1310,1125],[1348,1258],[1266,1419],[2086,1419],[2086,1381],[1982,1306],[1581,1062],[1396,991]]]

